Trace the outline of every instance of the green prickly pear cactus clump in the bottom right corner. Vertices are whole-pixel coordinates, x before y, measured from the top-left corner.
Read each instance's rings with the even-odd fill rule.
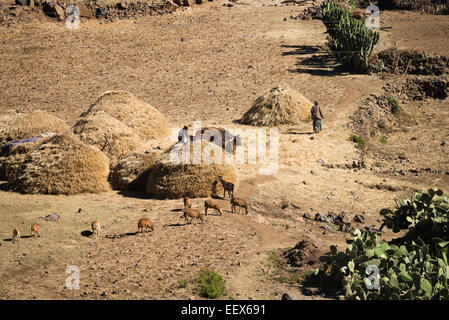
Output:
[[[431,189],[399,203],[395,212],[381,210],[387,227],[409,230],[405,237],[387,243],[356,230],[346,250],[331,246],[320,258],[323,268],[306,280],[342,291],[347,299],[449,299],[449,199],[442,195]]]

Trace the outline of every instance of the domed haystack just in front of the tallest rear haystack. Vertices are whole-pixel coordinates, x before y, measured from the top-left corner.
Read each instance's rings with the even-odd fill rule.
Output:
[[[81,118],[73,127],[81,141],[103,151],[112,162],[143,146],[140,137],[108,114]]]

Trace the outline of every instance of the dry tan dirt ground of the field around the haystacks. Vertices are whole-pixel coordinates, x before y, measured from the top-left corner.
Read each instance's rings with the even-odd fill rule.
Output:
[[[272,250],[304,238],[323,252],[331,244],[345,247],[349,234],[326,231],[305,213],[345,212],[351,219],[364,213],[365,223],[354,226],[378,227],[379,210],[393,207],[395,198],[429,187],[449,192],[447,99],[402,105],[417,124],[391,133],[385,145],[372,142],[378,152],[365,159],[366,169],[343,168],[361,160],[349,141],[349,116],[388,79],[341,71],[325,49],[322,22],[289,19],[301,7],[280,2],[242,0],[229,8],[215,1],[138,20],[82,21],[79,30],[50,20],[0,27],[0,112],[45,110],[73,125],[98,96],[118,89],[157,107],[173,128],[194,120],[234,128],[243,127],[234,121],[256,97],[281,85],[320,101],[325,116],[318,135],[309,123],[280,128],[275,175],[238,168],[237,193],[251,203],[249,215],[231,213],[229,200],[220,200],[223,216],[185,225],[182,199],[0,191],[1,299],[200,299],[192,287],[203,267],[226,279],[224,299],[280,299],[287,291],[324,299],[273,279],[269,261]],[[445,16],[385,12],[381,21],[379,50],[396,43],[449,54]],[[413,168],[442,173],[407,173]],[[42,219],[54,212],[59,221]],[[142,216],[154,222],[153,233],[136,234]],[[88,232],[95,218],[102,223],[96,239]],[[40,238],[28,237],[32,223],[40,224]],[[11,241],[15,227],[20,244]],[[79,290],[65,288],[70,265],[80,270]],[[188,280],[186,288],[180,280]]]

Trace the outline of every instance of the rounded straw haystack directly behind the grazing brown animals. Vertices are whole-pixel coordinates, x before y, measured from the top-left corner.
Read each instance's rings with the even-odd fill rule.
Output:
[[[180,144],[157,157],[146,182],[146,190],[150,197],[156,199],[179,199],[183,196],[191,198],[209,197],[212,195],[213,189],[216,189],[217,194],[223,195],[221,184],[215,183],[219,176],[223,176],[224,180],[234,183],[237,187],[237,172],[234,165],[224,163],[222,148],[204,140],[199,141],[200,150],[205,150],[204,148],[212,150],[210,153],[204,152],[203,155],[211,154],[212,158],[222,159],[222,164],[216,162],[206,164],[204,157],[201,159],[201,154],[194,153],[193,144],[187,144],[187,148],[190,148],[190,156],[185,157],[186,161],[180,161],[179,163],[172,161],[172,150],[178,150],[173,148],[180,146]],[[178,151],[175,153],[183,157],[181,151]],[[199,162],[199,160],[202,160],[201,163],[194,163]]]

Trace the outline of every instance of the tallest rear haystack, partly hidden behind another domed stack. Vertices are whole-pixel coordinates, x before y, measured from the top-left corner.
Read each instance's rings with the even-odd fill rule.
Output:
[[[107,113],[133,129],[147,141],[166,137],[170,128],[165,117],[156,108],[126,91],[104,93],[81,117]]]

